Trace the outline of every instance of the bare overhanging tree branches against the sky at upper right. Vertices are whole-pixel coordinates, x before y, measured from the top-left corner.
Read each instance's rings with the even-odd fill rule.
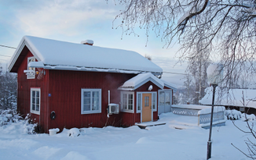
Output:
[[[181,44],[181,60],[191,57],[200,41],[209,49],[210,59],[218,59],[226,70],[225,84],[231,87],[233,70],[255,73],[256,1],[255,0],[119,0],[123,9],[116,20],[125,34],[137,28],[147,36],[154,32],[166,48]],[[119,22],[119,21],[115,21]],[[203,32],[203,34],[202,34]],[[147,40],[148,41],[148,40]],[[243,65],[244,62],[249,62]],[[248,65],[250,64],[250,65]]]

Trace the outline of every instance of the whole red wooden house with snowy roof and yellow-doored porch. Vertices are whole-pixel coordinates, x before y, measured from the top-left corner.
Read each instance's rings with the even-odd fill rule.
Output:
[[[159,66],[137,52],[92,43],[23,37],[8,66],[18,74],[17,111],[31,113],[48,133],[52,128],[132,126],[170,110],[175,87],[158,78]]]

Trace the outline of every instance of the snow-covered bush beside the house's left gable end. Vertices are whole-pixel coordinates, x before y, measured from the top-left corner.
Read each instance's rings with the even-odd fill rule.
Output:
[[[35,133],[35,127],[37,127],[37,123],[33,123],[31,121],[29,114],[27,114],[26,118],[23,119],[19,114],[17,114],[16,109],[1,109],[0,127],[12,128],[11,126],[20,126],[18,127],[20,132],[32,134]]]

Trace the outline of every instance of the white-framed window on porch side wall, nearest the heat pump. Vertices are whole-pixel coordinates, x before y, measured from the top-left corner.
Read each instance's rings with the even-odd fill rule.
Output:
[[[133,112],[134,93],[129,91],[121,92],[121,105],[123,112]]]

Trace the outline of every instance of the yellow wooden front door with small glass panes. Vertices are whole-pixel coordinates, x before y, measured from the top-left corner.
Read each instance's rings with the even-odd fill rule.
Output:
[[[152,121],[152,94],[142,94],[142,123]]]

